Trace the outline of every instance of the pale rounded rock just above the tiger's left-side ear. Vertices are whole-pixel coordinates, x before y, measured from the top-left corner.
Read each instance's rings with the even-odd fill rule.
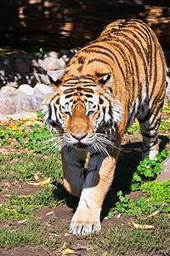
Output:
[[[59,54],[55,51],[50,51],[44,55],[44,65],[46,70],[59,70]]]

